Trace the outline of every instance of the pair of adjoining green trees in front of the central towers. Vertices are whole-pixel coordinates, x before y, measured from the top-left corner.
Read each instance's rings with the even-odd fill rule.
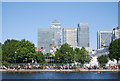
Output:
[[[90,60],[91,57],[88,55],[88,52],[84,47],[73,50],[73,48],[67,43],[63,44],[55,54],[56,63],[74,63],[74,61],[76,61],[84,64],[89,63]]]

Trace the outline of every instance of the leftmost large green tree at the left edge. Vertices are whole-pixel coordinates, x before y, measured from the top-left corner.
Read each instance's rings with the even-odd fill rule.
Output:
[[[2,61],[5,63],[15,63],[15,51],[18,40],[6,40],[2,45]]]

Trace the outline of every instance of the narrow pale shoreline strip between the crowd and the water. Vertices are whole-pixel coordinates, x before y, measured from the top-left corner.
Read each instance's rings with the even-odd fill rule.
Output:
[[[120,72],[120,70],[58,70],[58,69],[20,69],[20,70],[13,70],[13,69],[0,69],[0,72]]]

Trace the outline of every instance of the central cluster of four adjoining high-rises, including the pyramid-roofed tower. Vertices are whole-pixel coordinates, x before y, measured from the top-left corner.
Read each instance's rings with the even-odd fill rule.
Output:
[[[88,23],[80,23],[78,28],[63,28],[61,23],[54,20],[49,29],[38,29],[38,48],[44,53],[54,53],[62,44],[68,43],[73,48],[89,47]]]

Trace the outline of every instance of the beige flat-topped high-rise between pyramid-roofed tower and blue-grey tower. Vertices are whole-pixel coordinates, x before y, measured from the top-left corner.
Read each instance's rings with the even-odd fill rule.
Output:
[[[77,46],[77,28],[63,28],[63,44],[68,43],[73,48]]]

